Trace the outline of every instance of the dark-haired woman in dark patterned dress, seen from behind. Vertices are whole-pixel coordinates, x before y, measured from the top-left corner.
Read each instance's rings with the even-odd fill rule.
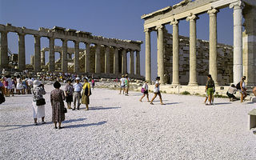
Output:
[[[61,83],[58,81],[54,82],[55,90],[50,92],[50,104],[52,106],[52,121],[54,122],[54,128],[62,129],[62,122],[65,120],[65,105],[64,105],[64,91],[60,90]]]

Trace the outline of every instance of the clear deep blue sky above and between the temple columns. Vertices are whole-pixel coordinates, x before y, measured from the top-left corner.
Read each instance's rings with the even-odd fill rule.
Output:
[[[38,30],[39,27],[62,26],[74,30],[91,32],[106,38],[120,38],[145,41],[142,14],[149,14],[180,0],[0,0],[0,24],[26,26]],[[209,16],[198,16],[198,38],[209,39]],[[171,26],[166,29],[171,33]],[[189,22],[179,24],[180,34],[189,36]],[[218,13],[218,42],[233,45],[233,10],[226,8]],[[8,45],[13,53],[18,53],[18,35],[8,34]],[[60,40],[55,45],[61,46]],[[48,39],[41,38],[41,47],[48,46]],[[68,42],[73,47],[73,42]],[[157,75],[157,39],[151,33],[152,75]],[[81,48],[85,48],[80,44]],[[26,63],[34,54],[34,38],[26,35]],[[58,55],[56,54],[58,58]],[[46,59],[46,61],[48,61]],[[145,75],[145,44],[141,51],[141,73]]]

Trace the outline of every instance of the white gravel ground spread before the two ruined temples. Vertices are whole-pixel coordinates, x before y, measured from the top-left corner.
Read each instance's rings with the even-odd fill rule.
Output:
[[[162,94],[166,106],[158,98],[150,106],[138,92],[95,89],[90,110],[68,110],[55,130],[52,89],[44,125],[33,125],[30,95],[0,105],[0,159],[256,159],[247,114],[255,104],[215,98],[205,106],[202,97]]]

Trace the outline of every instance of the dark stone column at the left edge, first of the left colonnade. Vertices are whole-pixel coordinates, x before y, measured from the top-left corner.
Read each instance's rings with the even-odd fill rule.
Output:
[[[9,65],[7,34],[6,31],[1,32],[0,68],[2,69]]]

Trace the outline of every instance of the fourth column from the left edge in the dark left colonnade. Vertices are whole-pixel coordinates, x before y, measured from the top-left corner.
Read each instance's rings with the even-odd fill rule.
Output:
[[[49,71],[55,71],[54,38],[49,38]]]

